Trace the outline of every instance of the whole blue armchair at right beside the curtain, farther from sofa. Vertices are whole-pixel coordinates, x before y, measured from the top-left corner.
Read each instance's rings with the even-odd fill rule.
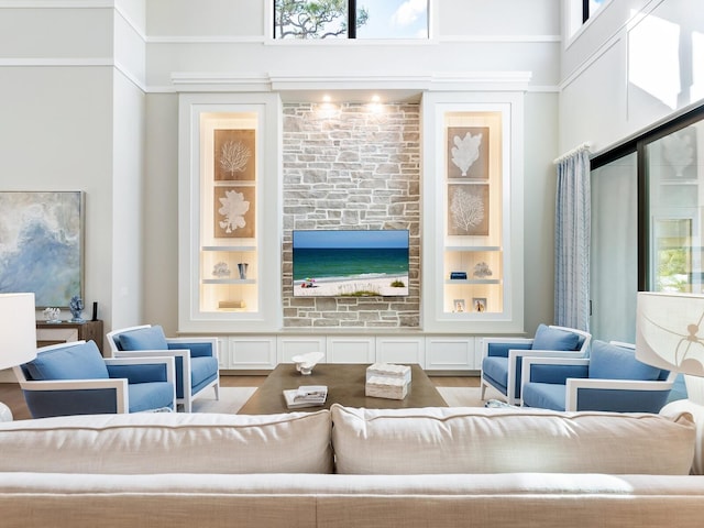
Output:
[[[540,324],[534,338],[484,338],[482,340],[481,398],[492,386],[510,405],[520,404],[524,358],[584,358],[592,334],[574,328]]]

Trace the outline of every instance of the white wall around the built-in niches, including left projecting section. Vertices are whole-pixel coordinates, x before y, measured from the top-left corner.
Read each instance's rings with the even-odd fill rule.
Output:
[[[457,89],[468,86],[470,74],[530,72],[525,210],[531,331],[552,318],[546,255],[553,237],[560,10],[557,0],[433,3],[435,38],[408,45],[271,43],[265,1],[2,2],[0,188],[85,190],[86,305],[99,301],[106,331],[148,321],[173,333],[177,91],[204,88],[174,78],[264,76],[263,89],[271,89],[278,76],[290,100],[340,74],[366,78],[369,91],[388,78],[407,86],[409,79],[454,77]],[[495,88],[490,85],[483,89]],[[34,138],[42,141],[38,155],[28,140]]]

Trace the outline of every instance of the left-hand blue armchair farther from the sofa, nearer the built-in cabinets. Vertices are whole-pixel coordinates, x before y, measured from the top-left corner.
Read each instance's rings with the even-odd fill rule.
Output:
[[[220,399],[220,369],[216,338],[166,338],[161,326],[142,324],[108,333],[114,358],[174,358],[176,362],[176,403],[186,413],[197,396],[213,387]]]

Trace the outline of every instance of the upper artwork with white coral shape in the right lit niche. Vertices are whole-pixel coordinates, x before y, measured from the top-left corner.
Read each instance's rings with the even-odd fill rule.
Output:
[[[448,178],[488,179],[488,127],[448,127]]]

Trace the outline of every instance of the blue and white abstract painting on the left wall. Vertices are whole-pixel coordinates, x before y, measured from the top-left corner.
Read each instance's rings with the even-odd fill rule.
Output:
[[[0,193],[0,292],[32,292],[37,308],[84,296],[84,194]]]

